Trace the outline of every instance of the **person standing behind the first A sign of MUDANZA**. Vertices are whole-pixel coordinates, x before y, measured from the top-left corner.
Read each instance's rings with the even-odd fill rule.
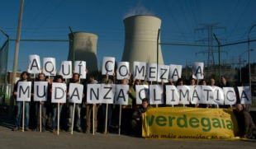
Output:
[[[72,80],[69,82],[69,85],[70,83],[76,83],[76,84],[80,84],[79,82],[79,78],[80,78],[80,75],[78,73],[73,73],[73,78]],[[68,86],[68,91],[69,91],[69,86]],[[70,95],[71,93],[69,93]],[[77,131],[78,133],[82,133],[82,128],[81,128],[81,104],[76,104],[75,107],[73,107],[73,103],[69,103],[69,120],[68,120],[68,131],[71,132],[72,131],[72,128],[71,128],[71,125],[72,125],[72,119],[73,119],[73,108],[75,108],[75,114],[76,114],[76,128],[77,128]]]

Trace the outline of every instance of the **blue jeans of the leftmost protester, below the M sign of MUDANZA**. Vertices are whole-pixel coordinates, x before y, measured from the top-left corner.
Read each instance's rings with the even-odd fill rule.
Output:
[[[23,109],[23,101],[17,101],[17,114],[15,118],[15,127],[17,128],[19,128],[21,124],[22,109]],[[30,120],[30,102],[25,101],[24,128],[29,127],[29,120]]]

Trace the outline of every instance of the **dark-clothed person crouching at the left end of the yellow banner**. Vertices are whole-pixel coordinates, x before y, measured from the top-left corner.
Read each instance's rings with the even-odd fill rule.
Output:
[[[141,135],[142,132],[142,115],[150,108],[149,100],[144,98],[140,108],[135,110],[132,114],[131,127],[137,135]]]

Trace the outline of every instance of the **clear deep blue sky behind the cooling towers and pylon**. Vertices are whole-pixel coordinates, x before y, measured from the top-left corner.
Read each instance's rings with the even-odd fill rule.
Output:
[[[20,0],[1,1],[0,28],[16,38]],[[207,44],[207,30],[195,31],[202,24],[218,23],[225,27],[213,30],[221,44],[247,40],[249,27],[256,23],[255,0],[25,0],[21,39],[68,40],[69,26],[73,31],[87,31],[98,35],[97,58],[104,56],[121,61],[125,30],[123,20],[132,15],[153,15],[162,20],[161,43]],[[256,27],[250,37],[256,39]],[[221,40],[222,39],[222,40]],[[0,35],[0,45],[5,37]],[[197,41],[197,42],[196,42]],[[216,44],[214,41],[213,44]],[[256,43],[252,63],[256,63]],[[15,42],[10,44],[8,70],[12,70]],[[165,64],[205,61],[207,48],[162,45]],[[239,55],[245,60],[247,44],[223,47],[222,60],[235,63]],[[54,57],[57,65],[68,58],[69,42],[21,42],[18,69],[26,70],[30,54],[40,58]],[[217,61],[217,54],[214,54]],[[233,59],[233,61],[232,61]]]

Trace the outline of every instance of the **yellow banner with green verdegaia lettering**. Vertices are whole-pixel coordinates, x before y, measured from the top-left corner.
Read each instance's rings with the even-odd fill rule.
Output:
[[[143,115],[142,136],[154,139],[234,139],[232,109],[151,108]]]

